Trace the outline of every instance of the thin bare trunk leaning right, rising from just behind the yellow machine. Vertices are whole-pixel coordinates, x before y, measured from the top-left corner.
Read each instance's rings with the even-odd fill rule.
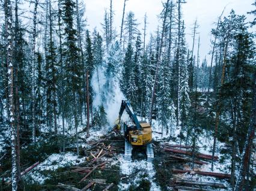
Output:
[[[152,91],[152,97],[151,97],[151,105],[150,105],[150,125],[152,125],[152,113],[153,113],[153,107],[154,107],[154,96],[156,93],[156,86],[157,86],[157,78],[158,78],[158,72],[159,72],[159,65],[160,65],[160,60],[161,60],[161,53],[162,53],[162,47],[163,47],[163,37],[165,34],[165,24],[166,24],[166,17],[168,13],[168,7],[169,7],[169,0],[166,2],[166,7],[165,7],[165,14],[163,17],[163,26],[162,26],[162,37],[160,41],[160,47],[159,47],[159,56],[157,58],[157,63],[156,63],[156,75],[154,77],[154,86],[153,86],[153,91]]]

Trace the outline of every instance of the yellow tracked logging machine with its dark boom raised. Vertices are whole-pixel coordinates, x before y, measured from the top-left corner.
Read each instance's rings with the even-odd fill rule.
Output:
[[[124,148],[124,159],[131,160],[132,158],[132,147],[147,147],[147,160],[152,161],[154,159],[154,151],[152,142],[152,128],[147,122],[139,122],[136,114],[133,112],[132,106],[129,101],[122,100],[118,119],[115,121],[115,129],[120,131],[121,129],[121,116],[124,110],[131,121],[124,122],[124,137],[125,137],[125,148]]]

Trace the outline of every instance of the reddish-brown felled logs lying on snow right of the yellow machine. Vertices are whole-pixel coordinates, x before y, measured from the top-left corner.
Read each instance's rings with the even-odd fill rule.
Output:
[[[178,148],[178,149],[177,149]],[[193,156],[192,151],[189,150],[182,150],[181,148],[186,148],[190,149],[192,147],[187,146],[187,145],[169,145],[165,144],[163,146],[163,151],[174,153],[174,154],[168,154],[169,157],[175,159],[175,160],[182,160],[184,162],[192,162],[191,156]],[[177,156],[178,154],[178,156]],[[180,156],[181,155],[181,156]],[[183,157],[182,155],[190,156],[190,157]],[[212,156],[209,154],[203,154],[203,153],[196,153],[195,157],[197,159],[194,160],[194,163],[198,165],[206,165],[207,162],[203,162],[198,159],[203,159],[203,160],[212,160]],[[218,156],[214,156],[213,160],[218,160]],[[199,174],[199,175],[204,175],[204,176],[211,176],[211,177],[217,177],[217,178],[230,178],[230,174],[222,174],[222,173],[216,173],[216,172],[205,172],[205,171],[190,171],[187,169],[172,169],[172,172],[174,173],[189,173],[189,174]]]

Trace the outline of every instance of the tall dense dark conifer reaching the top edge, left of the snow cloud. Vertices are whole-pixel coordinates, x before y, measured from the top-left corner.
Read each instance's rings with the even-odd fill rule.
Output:
[[[75,15],[75,2],[66,0],[62,2],[63,6],[63,23],[64,35],[66,41],[64,42],[63,55],[64,62],[66,63],[66,107],[67,111],[73,111],[76,129],[76,150],[79,155],[78,145],[78,114],[77,114],[77,93],[79,91],[79,84],[81,80],[81,66],[78,65],[78,47],[76,46],[77,31],[74,28],[73,17]]]

